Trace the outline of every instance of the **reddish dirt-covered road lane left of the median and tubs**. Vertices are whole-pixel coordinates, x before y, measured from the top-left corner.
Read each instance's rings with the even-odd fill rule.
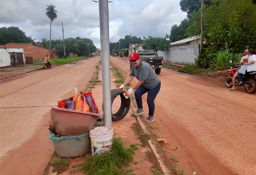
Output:
[[[84,91],[100,58],[39,70],[0,81],[1,174],[42,174],[54,148],[48,120],[52,105]]]

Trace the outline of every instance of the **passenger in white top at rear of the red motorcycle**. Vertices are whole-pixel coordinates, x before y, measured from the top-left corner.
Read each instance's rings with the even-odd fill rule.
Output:
[[[243,63],[245,65],[247,65],[247,70],[246,70],[246,74],[256,71],[256,50],[254,49],[250,49],[249,50],[249,59],[248,59],[248,63],[244,62]],[[238,85],[242,85],[243,84],[243,74],[241,73],[237,73],[238,74],[238,78],[239,78],[239,84]]]

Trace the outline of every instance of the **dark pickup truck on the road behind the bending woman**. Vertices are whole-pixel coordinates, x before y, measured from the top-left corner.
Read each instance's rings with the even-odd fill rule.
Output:
[[[156,74],[160,74],[161,68],[163,68],[164,58],[158,57],[157,52],[154,50],[136,50],[140,58],[151,65],[155,69]],[[130,63],[130,69],[132,65]]]

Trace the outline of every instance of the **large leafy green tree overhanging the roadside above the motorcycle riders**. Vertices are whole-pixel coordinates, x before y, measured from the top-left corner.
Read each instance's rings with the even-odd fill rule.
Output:
[[[215,0],[204,8],[204,41],[202,56],[197,63],[209,67],[217,51],[230,44],[234,53],[256,47],[256,6],[248,0]],[[243,5],[241,5],[243,4]],[[191,25],[187,35],[195,36],[200,32],[200,10],[191,13]]]

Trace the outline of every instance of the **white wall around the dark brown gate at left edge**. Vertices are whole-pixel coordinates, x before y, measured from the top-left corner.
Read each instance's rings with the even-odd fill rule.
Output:
[[[10,54],[9,52],[23,52],[23,62],[24,61],[24,51],[23,48],[0,48],[0,67],[10,66]]]

